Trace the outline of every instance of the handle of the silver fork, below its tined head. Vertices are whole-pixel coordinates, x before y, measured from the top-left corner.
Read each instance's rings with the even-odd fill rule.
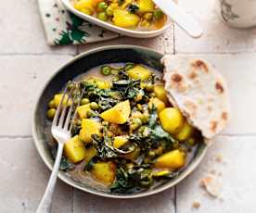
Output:
[[[59,163],[62,157],[63,147],[64,147],[64,144],[62,143],[58,144],[58,152],[57,152],[57,157],[55,159],[54,168],[52,170],[51,177],[47,184],[45,194],[39,204],[39,207],[36,210],[36,213],[51,212],[53,194],[54,194],[54,189],[55,189],[55,185],[58,178],[58,169],[59,169]]]

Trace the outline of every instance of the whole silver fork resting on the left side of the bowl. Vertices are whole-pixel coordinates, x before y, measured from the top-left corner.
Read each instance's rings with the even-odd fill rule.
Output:
[[[72,128],[71,114],[74,107],[74,98],[72,96],[73,91],[74,91],[74,88],[70,89],[69,91],[68,87],[64,90],[61,101],[58,105],[57,112],[52,122],[51,132],[53,137],[58,142],[58,152],[57,152],[57,157],[55,159],[54,167],[52,169],[49,182],[45,190],[45,194],[39,204],[39,207],[36,210],[36,213],[51,212],[52,199],[53,199],[55,185],[58,178],[58,169],[59,169],[59,164],[62,157],[64,144],[68,142],[71,137],[71,132],[70,132]],[[64,98],[67,94],[68,94],[68,98]],[[71,105],[69,110],[67,111],[70,101],[71,101]],[[73,116],[73,118],[74,117],[75,115]]]

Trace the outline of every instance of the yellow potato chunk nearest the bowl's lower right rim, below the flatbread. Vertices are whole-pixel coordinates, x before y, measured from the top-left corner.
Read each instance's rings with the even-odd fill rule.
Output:
[[[158,169],[179,169],[185,165],[185,160],[185,153],[175,149],[158,157],[155,167]]]

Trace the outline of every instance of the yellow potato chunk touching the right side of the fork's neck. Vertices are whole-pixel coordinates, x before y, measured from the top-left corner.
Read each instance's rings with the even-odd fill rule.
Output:
[[[64,155],[72,163],[77,163],[85,157],[85,147],[83,142],[78,138],[78,135],[74,136],[64,145]]]

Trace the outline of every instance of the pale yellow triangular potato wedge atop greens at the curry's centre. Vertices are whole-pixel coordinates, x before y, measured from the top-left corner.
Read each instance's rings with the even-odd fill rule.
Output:
[[[130,102],[127,100],[117,104],[115,107],[104,111],[100,114],[100,117],[111,123],[123,124],[128,120],[130,113]]]

